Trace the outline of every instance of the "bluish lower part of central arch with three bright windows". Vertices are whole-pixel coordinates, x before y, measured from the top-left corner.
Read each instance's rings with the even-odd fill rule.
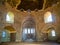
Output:
[[[35,41],[36,39],[34,28],[24,28],[23,29],[23,40],[24,41]]]

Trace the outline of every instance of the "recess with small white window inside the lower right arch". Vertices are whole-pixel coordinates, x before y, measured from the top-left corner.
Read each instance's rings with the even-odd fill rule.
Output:
[[[57,40],[57,32],[54,27],[51,27],[47,30],[48,33],[48,40],[56,41]]]

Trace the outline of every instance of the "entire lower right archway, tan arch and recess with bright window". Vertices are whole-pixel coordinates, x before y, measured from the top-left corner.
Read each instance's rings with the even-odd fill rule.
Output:
[[[57,32],[54,26],[48,26],[45,25],[44,29],[42,30],[44,32],[45,36],[45,41],[56,41],[57,40]]]

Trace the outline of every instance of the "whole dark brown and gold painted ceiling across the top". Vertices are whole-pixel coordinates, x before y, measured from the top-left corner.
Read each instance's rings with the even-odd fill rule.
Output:
[[[60,0],[0,0],[0,4],[4,4],[5,2],[13,8],[16,7],[18,10],[41,10],[60,2]]]

